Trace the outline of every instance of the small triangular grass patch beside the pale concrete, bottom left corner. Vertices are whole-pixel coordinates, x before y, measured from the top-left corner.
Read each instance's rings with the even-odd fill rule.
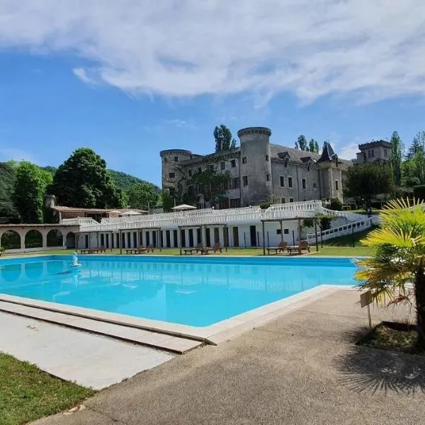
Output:
[[[0,353],[0,424],[19,425],[94,395],[94,390],[55,378],[30,363]]]

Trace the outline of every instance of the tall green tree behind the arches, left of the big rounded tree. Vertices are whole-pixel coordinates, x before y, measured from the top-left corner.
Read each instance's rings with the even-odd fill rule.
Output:
[[[52,183],[52,174],[30,162],[16,167],[13,200],[25,223],[42,223],[46,190]]]

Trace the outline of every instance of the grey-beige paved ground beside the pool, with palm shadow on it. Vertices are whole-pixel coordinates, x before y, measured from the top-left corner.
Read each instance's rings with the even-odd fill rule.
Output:
[[[338,291],[140,373],[80,412],[35,424],[424,423],[425,358],[354,346],[366,322],[357,300],[356,292]],[[373,312],[375,321],[392,316]]]

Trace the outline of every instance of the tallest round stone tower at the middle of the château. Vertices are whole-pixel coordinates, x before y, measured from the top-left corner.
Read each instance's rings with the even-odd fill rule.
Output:
[[[269,141],[271,130],[266,127],[242,128],[237,136],[241,141],[242,206],[273,202]]]

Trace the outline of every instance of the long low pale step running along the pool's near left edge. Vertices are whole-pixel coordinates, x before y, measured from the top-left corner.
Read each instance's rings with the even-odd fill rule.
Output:
[[[0,301],[0,311],[18,314],[19,316],[30,317],[32,319],[42,320],[59,324],[61,326],[88,331],[94,334],[101,334],[114,339],[157,348],[159,350],[169,351],[171,353],[186,353],[203,345],[202,341],[184,338],[182,336],[173,336],[161,334],[159,332],[138,329],[136,327],[114,324],[97,319],[88,319],[86,317],[74,316],[73,314],[52,312],[37,307],[16,304],[14,302]]]

